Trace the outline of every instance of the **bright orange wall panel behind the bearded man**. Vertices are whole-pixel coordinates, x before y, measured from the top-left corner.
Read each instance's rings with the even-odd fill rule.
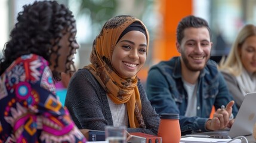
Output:
[[[191,15],[193,8],[193,0],[160,0],[161,8],[159,12],[163,16],[162,29],[159,29],[159,38],[156,38],[153,52],[156,63],[160,60],[169,60],[174,56],[180,55],[178,53],[175,42],[176,42],[176,29],[178,22],[181,18]],[[161,47],[159,47],[161,46]],[[156,49],[157,47],[157,49]],[[161,52],[159,52],[161,50]]]

